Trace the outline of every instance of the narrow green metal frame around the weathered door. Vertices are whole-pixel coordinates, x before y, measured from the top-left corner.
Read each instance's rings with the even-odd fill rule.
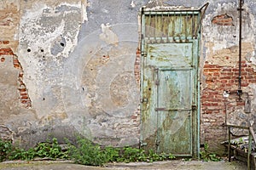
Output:
[[[142,8],[141,10],[141,41],[140,41],[140,48],[141,48],[141,71],[140,71],[140,77],[141,77],[141,80],[140,80],[140,100],[141,100],[141,111],[143,112],[143,102],[144,102],[144,99],[143,99],[143,80],[144,80],[144,65],[145,65],[145,57],[147,56],[147,52],[146,52],[146,46],[148,44],[148,42],[145,41],[145,13],[144,13],[144,10]],[[170,14],[175,14],[175,13],[192,13],[192,14],[197,14],[199,19],[201,21],[201,11],[200,10],[190,10],[189,12],[188,11],[165,11],[165,13],[168,13],[170,12]],[[148,13],[148,11],[146,12]],[[153,13],[153,14],[163,14],[163,11],[157,11],[157,10],[153,10],[153,11],[150,11],[149,9],[149,13]],[[197,53],[193,54],[193,59],[195,58],[196,60],[196,70],[195,70],[195,81],[196,81],[196,87],[195,87],[195,94],[194,94],[194,97],[195,97],[195,115],[192,116],[192,157],[195,157],[195,158],[199,158],[200,157],[200,117],[201,117],[201,108],[200,108],[200,73],[199,73],[199,62],[200,62],[200,29],[201,29],[201,23],[198,23],[198,26],[197,26],[197,31],[196,31],[196,34],[194,35],[195,37],[191,37],[191,39],[189,39],[189,42],[193,42],[193,47],[194,45],[197,47]],[[173,40],[175,40],[175,38],[173,38]],[[178,42],[177,42],[178,43]],[[142,117],[142,113],[140,114],[140,125],[141,125],[141,135],[140,135],[140,146],[143,147],[146,145],[146,143],[143,141],[143,136],[142,136],[142,130],[143,130],[143,117]]]

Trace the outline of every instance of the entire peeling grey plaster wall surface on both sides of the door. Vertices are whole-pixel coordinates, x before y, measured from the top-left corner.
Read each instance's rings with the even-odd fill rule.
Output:
[[[138,144],[139,9],[162,5],[201,8],[207,2],[210,5],[201,25],[201,96],[206,89],[216,90],[207,84],[206,62],[236,67],[236,1],[1,1],[1,137],[27,147],[52,137],[73,139],[78,134],[99,144]],[[242,59],[253,69],[255,6],[255,1],[245,0],[242,37]],[[231,16],[233,26],[212,24],[219,14]],[[229,112],[238,114],[230,115],[230,122],[253,120],[255,86],[252,81],[242,88],[252,99],[251,113],[245,114],[240,105],[240,112],[237,108]],[[236,90],[237,83],[219,87],[218,98],[224,100],[222,93]],[[212,114],[207,114],[210,107],[202,106],[202,143],[215,141],[219,132],[225,132],[221,127],[226,122],[224,106],[213,108],[217,113]],[[216,126],[219,128],[207,131]]]

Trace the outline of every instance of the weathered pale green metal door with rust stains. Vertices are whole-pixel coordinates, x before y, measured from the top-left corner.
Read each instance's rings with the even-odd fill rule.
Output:
[[[181,24],[198,20],[199,15],[196,14],[179,15],[180,20],[176,15],[171,18],[171,14],[143,14],[141,146],[146,150],[154,149],[175,156],[198,156],[198,39],[191,31],[192,28],[196,30],[195,23],[193,27],[188,26],[188,22],[187,30]],[[165,20],[165,23],[154,22],[152,27],[152,21],[148,23],[148,18]],[[172,26],[172,19],[178,22],[181,30]],[[169,24],[166,24],[168,20]],[[166,37],[150,36],[157,24],[177,29],[180,31],[179,37],[175,37],[177,31],[163,31],[165,26],[159,27],[163,31],[161,35]]]

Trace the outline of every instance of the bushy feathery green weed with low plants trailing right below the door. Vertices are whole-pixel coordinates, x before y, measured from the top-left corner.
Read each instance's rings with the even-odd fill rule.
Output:
[[[145,150],[125,146],[122,149],[107,146],[100,148],[97,144],[92,144],[88,139],[78,139],[77,146],[71,145],[68,154],[70,158],[79,164],[102,166],[107,162],[132,162],[132,161],[164,161],[174,159],[172,154],[156,154],[154,150]]]

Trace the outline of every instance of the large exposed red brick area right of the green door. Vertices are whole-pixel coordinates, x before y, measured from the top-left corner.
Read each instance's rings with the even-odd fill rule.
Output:
[[[244,97],[237,94],[239,64],[235,66],[210,65],[203,67],[205,87],[201,89],[201,133],[212,149],[218,149],[220,143],[227,139],[224,124],[231,111],[244,108]],[[241,61],[241,89],[247,89],[250,83],[256,82],[256,72],[245,60]],[[224,98],[228,91],[229,98]],[[244,93],[247,93],[243,90]],[[227,111],[228,110],[228,111]],[[223,150],[223,148],[222,148]]]

